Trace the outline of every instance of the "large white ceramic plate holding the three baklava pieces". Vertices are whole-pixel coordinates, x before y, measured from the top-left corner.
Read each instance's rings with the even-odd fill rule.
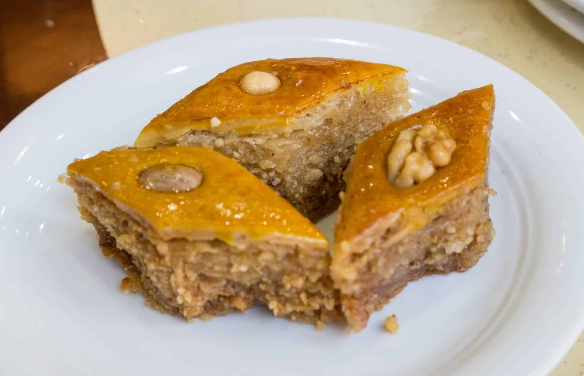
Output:
[[[315,55],[408,68],[412,112],[494,83],[489,252],[467,273],[410,284],[359,335],[316,332],[259,307],[186,323],[120,294],[123,271],[56,181],[65,166],[131,144],[231,65]],[[63,83],[0,133],[0,374],[544,375],[584,326],[583,159],[579,131],[539,89],[411,30],[276,19],[138,48]],[[331,221],[321,227],[330,232]],[[381,327],[390,314],[397,335]]]

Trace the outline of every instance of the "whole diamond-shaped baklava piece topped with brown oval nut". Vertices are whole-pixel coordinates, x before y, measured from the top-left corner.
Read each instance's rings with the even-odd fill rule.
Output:
[[[326,238],[232,159],[204,148],[126,148],[67,173],[104,255],[128,272],[123,290],[155,308],[192,319],[260,303],[315,325],[340,318]]]

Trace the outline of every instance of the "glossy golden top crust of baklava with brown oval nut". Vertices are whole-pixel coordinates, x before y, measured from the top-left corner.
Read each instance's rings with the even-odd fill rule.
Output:
[[[162,163],[192,166],[203,179],[182,193],[144,188],[140,174]],[[327,239],[307,218],[237,162],[211,149],[114,149],[71,163],[67,173],[88,179],[163,239],[203,234],[231,243],[241,233],[252,239],[280,234],[314,241],[328,252]]]

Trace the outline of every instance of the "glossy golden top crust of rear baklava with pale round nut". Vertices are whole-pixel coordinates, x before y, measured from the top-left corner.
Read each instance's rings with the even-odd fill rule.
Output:
[[[250,72],[273,74],[279,79],[279,88],[262,95],[246,92],[241,79]],[[217,75],[152,119],[134,145],[176,143],[176,138],[190,130],[253,133],[286,126],[295,114],[338,90],[364,81],[383,85],[382,79],[405,72],[387,64],[325,57],[245,62]]]

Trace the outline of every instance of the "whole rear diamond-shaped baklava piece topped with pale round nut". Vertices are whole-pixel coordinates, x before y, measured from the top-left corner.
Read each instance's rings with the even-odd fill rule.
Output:
[[[152,119],[134,146],[212,148],[317,221],[338,207],[357,145],[409,110],[405,72],[322,57],[246,62]]]

